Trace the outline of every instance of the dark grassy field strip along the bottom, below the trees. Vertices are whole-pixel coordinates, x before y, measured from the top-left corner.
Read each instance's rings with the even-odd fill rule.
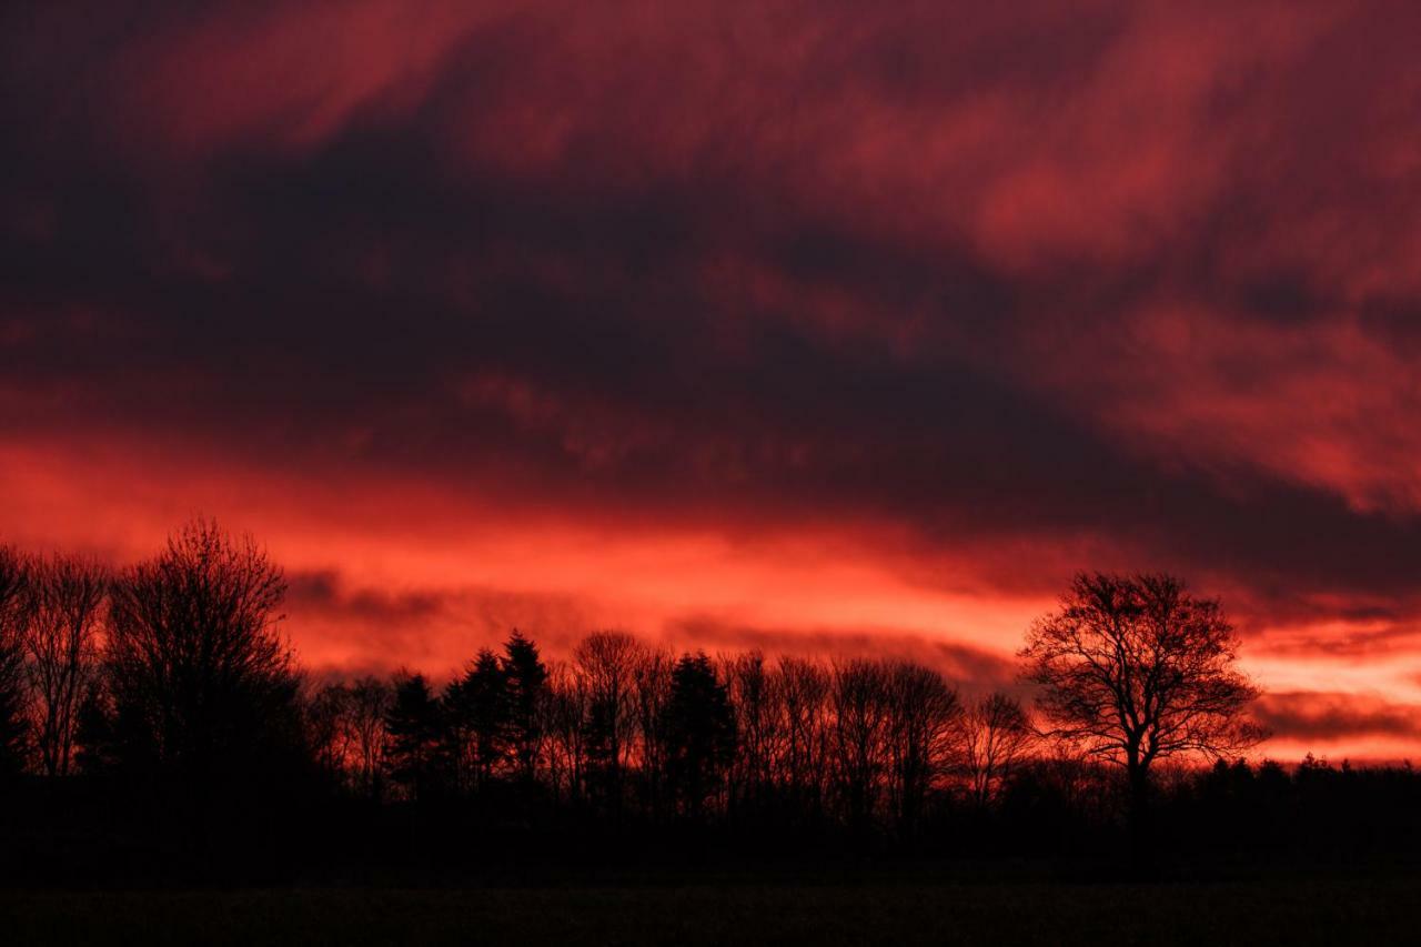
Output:
[[[10,944],[1401,944],[1421,877],[10,892]]]

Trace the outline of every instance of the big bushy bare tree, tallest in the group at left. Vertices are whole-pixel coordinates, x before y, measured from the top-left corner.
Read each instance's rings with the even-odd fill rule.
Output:
[[[281,570],[198,520],[112,586],[104,677],[117,756],[202,805],[271,778],[300,742],[298,678],[277,634]]]

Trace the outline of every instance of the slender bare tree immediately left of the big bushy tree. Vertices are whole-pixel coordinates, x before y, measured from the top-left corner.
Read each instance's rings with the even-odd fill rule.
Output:
[[[34,695],[34,735],[48,776],[70,772],[80,702],[95,680],[98,631],[108,573],[74,556],[37,560],[33,609],[24,630],[26,670]]]

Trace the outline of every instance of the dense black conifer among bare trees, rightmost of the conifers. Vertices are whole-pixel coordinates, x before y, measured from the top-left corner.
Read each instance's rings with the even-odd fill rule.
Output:
[[[682,812],[699,816],[735,755],[730,698],[703,651],[672,668],[662,727],[671,789]]]

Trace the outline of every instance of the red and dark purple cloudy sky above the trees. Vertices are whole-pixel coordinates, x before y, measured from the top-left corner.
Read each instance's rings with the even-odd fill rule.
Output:
[[[259,537],[321,671],[517,626],[963,688],[1216,596],[1421,749],[1421,6],[16,3],[0,542]]]

